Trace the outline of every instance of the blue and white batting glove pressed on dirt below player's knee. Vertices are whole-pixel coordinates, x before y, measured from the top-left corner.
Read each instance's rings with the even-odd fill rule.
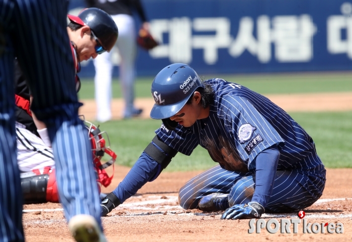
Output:
[[[264,207],[257,202],[237,204],[227,208],[222,214],[221,219],[259,218],[264,211]]]

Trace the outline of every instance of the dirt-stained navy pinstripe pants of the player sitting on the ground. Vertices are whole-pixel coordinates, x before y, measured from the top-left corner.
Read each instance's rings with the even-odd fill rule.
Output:
[[[311,155],[313,158],[313,155]],[[312,172],[292,169],[276,172],[273,194],[266,206],[268,212],[289,212],[312,205],[325,187],[325,170]],[[179,192],[179,203],[185,209],[198,207],[202,197],[220,192],[229,194],[229,205],[248,203],[255,189],[255,176],[227,171],[215,166],[188,181]]]

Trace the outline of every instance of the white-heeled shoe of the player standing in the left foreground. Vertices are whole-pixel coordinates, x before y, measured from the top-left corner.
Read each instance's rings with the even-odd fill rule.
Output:
[[[68,228],[77,242],[107,242],[96,219],[91,215],[73,216],[68,222]]]

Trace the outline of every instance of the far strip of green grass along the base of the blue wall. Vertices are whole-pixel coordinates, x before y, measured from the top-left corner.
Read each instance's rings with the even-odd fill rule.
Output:
[[[150,86],[154,77],[138,78],[135,82],[136,97],[151,97]],[[222,78],[236,82],[261,94],[309,93],[309,92],[342,92],[352,91],[350,73],[292,73],[292,74],[257,74],[257,75],[206,75],[202,79]],[[92,78],[81,78],[79,98],[94,98]],[[121,86],[118,79],[112,82],[114,98],[121,98]]]

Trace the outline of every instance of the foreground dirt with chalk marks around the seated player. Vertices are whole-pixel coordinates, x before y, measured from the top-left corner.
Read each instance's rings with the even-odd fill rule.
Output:
[[[116,167],[111,192],[129,168]],[[109,241],[349,241],[352,239],[352,169],[327,169],[323,196],[305,209],[309,223],[342,223],[343,233],[248,233],[249,220],[220,220],[221,213],[184,210],[178,205],[180,187],[200,172],[162,173],[138,193],[103,217]],[[27,242],[73,241],[60,204],[31,204],[24,207],[23,223]],[[47,209],[41,210],[41,209]],[[270,218],[298,218],[291,214],[263,214]]]

